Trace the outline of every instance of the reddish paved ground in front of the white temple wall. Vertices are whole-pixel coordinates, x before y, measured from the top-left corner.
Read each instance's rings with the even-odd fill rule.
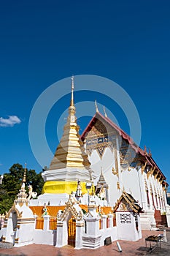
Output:
[[[131,241],[119,241],[122,248],[122,252],[119,252],[117,248],[116,241],[108,246],[102,246],[99,249],[81,249],[77,250],[70,246],[65,246],[62,249],[55,248],[54,246],[42,245],[42,244],[32,244],[28,246],[22,246],[19,248],[13,247],[12,249],[2,249],[0,248],[0,256],[8,255],[18,255],[18,256],[103,256],[103,255],[114,255],[114,256],[134,256],[134,255],[170,255],[170,230],[166,231],[167,243],[162,242],[160,246],[156,247],[151,253],[149,249],[149,242],[145,247],[145,238],[147,236],[158,236],[158,234],[163,233],[163,231],[143,231],[143,238],[136,242]],[[154,246],[155,243],[152,243]]]

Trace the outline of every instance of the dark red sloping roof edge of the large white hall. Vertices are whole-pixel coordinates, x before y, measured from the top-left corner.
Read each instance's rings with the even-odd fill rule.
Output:
[[[144,159],[145,159],[145,161],[147,161],[148,165],[150,165],[151,167],[155,167],[159,171],[161,176],[163,176],[163,179],[166,180],[166,177],[163,175],[163,173],[161,172],[158,165],[152,159],[151,154],[147,153],[147,151],[145,151],[142,148],[140,148],[139,146],[137,146],[136,143],[134,143],[134,140],[129,135],[127,135],[127,133],[125,133],[123,131],[123,129],[120,129],[120,127],[118,127],[112,120],[110,120],[107,116],[103,116],[98,111],[96,111],[96,114],[90,120],[90,122],[89,122],[88,126],[85,128],[84,132],[82,132],[82,136],[81,136],[82,141],[85,140],[86,135],[88,134],[88,132],[90,132],[90,129],[93,127],[93,125],[98,120],[101,122],[102,121],[107,122],[107,124],[109,124],[110,127],[115,129],[117,131],[118,135],[120,135],[124,140],[126,140],[129,143],[129,145],[131,146],[131,148],[133,148],[134,151],[136,151],[136,154],[140,154],[142,157],[144,157]]]

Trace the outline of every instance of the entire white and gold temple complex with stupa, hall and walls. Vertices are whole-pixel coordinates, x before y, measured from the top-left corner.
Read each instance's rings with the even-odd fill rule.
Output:
[[[69,115],[50,167],[42,173],[42,195],[36,197],[31,187],[26,194],[25,172],[0,230],[4,243],[95,249],[108,237],[137,241],[142,229],[170,227],[168,184],[151,152],[137,146],[105,110],[104,116],[99,113],[97,103],[82,136],[79,129],[72,78]]]

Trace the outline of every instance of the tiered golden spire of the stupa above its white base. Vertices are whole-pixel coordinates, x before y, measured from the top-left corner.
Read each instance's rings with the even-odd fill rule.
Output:
[[[74,78],[72,77],[72,97],[69,106],[69,116],[63,127],[63,136],[50,163],[49,170],[66,167],[89,169],[90,167],[88,155],[85,153],[85,148],[80,138],[80,127],[77,125],[75,113]]]

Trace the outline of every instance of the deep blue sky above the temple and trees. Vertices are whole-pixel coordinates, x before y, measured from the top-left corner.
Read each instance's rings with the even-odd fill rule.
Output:
[[[170,183],[169,7],[168,0],[1,2],[0,173],[16,162],[42,170],[28,139],[34,102],[56,81],[88,74],[114,80],[130,95],[142,123],[140,146],[151,148]],[[107,105],[128,132],[125,116],[114,103],[109,106],[100,95],[78,93],[75,102],[82,97]],[[47,118],[52,151],[58,144],[58,109],[66,110],[69,95],[58,104]],[[80,118],[80,132],[88,121]]]

